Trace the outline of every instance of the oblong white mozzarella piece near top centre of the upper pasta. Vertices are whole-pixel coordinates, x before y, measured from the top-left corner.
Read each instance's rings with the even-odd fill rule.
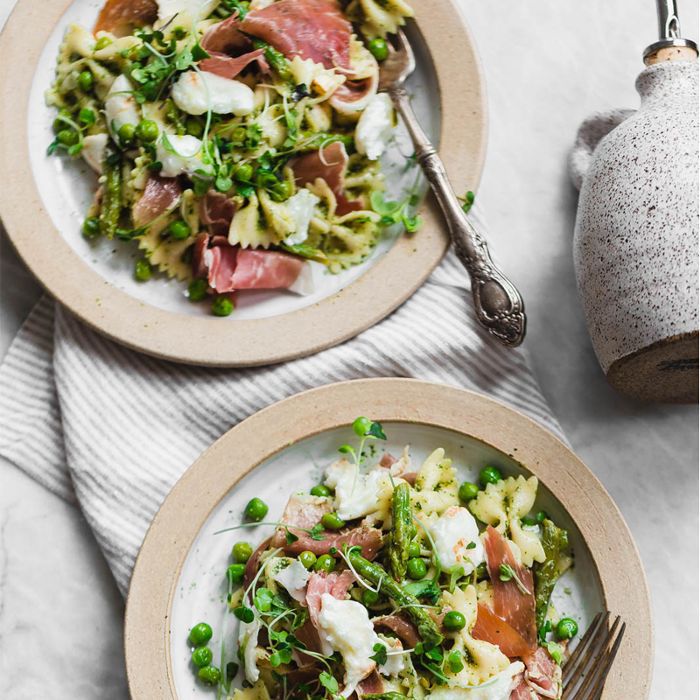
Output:
[[[253,111],[254,94],[244,83],[206,71],[186,71],[175,81],[171,92],[175,104],[187,114],[216,114],[244,117]]]

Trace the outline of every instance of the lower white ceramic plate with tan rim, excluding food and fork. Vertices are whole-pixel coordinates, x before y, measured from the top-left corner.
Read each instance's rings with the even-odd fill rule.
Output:
[[[555,604],[584,628],[608,609],[627,634],[605,687],[605,700],[642,700],[649,692],[652,625],[644,571],[620,512],[600,482],[538,424],[478,394],[409,379],[331,384],[277,403],[230,430],[185,473],[156,515],[134,569],[125,622],[134,700],[209,697],[194,681],[187,635],[207,619],[213,649],[234,658],[223,580],[238,525],[254,495],[279,517],[290,493],[318,483],[348,440],[358,415],[382,422],[389,451],[411,445],[416,462],[444,447],[462,478],[485,464],[540,480],[538,507],[566,527],[576,565],[557,586]],[[269,527],[246,531],[259,542]],[[235,622],[235,621],[233,621]]]

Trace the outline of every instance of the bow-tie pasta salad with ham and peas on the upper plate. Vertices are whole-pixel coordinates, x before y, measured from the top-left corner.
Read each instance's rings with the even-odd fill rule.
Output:
[[[47,101],[49,154],[98,176],[88,239],[132,242],[138,281],[187,285],[227,316],[234,293],[313,291],[313,267],[357,265],[383,229],[396,115],[378,92],[404,0],[107,0],[72,24]]]

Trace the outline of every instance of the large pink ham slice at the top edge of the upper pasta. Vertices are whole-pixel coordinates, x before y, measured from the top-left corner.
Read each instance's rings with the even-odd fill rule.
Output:
[[[278,0],[240,22],[287,57],[301,56],[326,68],[350,67],[351,24],[336,0]]]

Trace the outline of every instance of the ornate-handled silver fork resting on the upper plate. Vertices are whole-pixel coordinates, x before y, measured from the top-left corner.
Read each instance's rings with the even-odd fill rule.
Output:
[[[445,216],[457,257],[471,277],[480,323],[501,343],[516,347],[525,337],[525,304],[512,282],[491,260],[486,242],[462,210],[440,156],[416,119],[404,88],[415,67],[411,45],[399,31],[388,58],[381,64],[379,90],[391,97],[411,135],[416,158]]]

